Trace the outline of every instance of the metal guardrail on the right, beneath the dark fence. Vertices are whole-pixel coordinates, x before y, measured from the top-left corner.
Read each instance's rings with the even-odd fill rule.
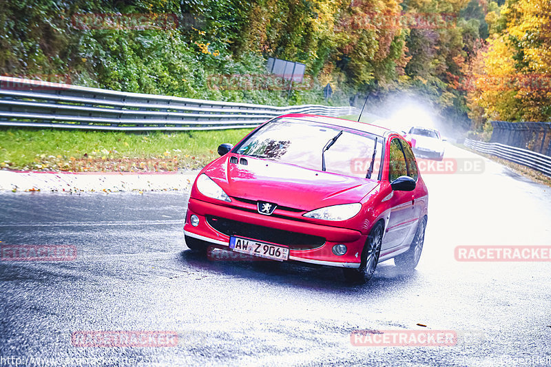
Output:
[[[492,154],[506,160],[518,163],[551,176],[551,157],[536,153],[528,149],[510,147],[500,143],[484,143],[477,140],[465,139],[464,145],[481,153]]]

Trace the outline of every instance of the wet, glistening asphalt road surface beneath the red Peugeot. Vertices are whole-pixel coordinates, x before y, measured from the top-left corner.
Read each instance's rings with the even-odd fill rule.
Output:
[[[446,156],[477,157],[455,147]],[[551,189],[488,160],[477,174],[424,178],[417,270],[398,273],[390,260],[362,286],[338,269],[200,258],[183,240],[185,193],[3,193],[2,244],[74,245],[78,255],[0,262],[0,366],[551,365],[551,263],[454,258],[461,245],[550,245]],[[397,328],[459,339],[351,346],[352,331]],[[178,345],[79,347],[75,331],[175,331]]]

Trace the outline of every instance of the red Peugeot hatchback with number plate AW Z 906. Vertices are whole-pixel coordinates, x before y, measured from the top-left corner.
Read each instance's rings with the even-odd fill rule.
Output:
[[[391,258],[417,266],[428,191],[396,132],[287,114],[218,154],[191,189],[189,249],[337,266],[350,282],[365,282]]]

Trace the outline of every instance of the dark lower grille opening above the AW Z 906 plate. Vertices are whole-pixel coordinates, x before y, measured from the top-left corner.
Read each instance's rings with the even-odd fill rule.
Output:
[[[283,231],[226,218],[207,216],[207,223],[216,231],[225,235],[236,235],[258,241],[283,244],[289,246],[292,250],[318,249],[325,243],[325,238],[317,235]]]

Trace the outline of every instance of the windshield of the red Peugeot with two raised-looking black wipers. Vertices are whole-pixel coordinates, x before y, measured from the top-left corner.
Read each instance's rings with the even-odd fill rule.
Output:
[[[305,120],[273,120],[238,145],[236,153],[320,171],[322,150],[340,132],[342,134],[324,153],[326,171],[366,177],[377,138],[377,152],[371,174],[371,178],[376,179],[383,139],[339,126]]]

